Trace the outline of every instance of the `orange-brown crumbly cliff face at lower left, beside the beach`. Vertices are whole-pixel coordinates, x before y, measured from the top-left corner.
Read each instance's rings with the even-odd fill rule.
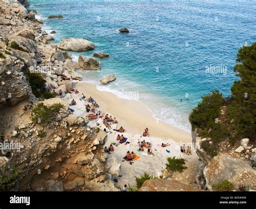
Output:
[[[110,180],[110,165],[102,149],[106,133],[87,127],[89,121],[73,115],[59,98],[44,103],[61,103],[63,108],[50,123],[28,119],[5,139],[5,143],[19,144],[19,150],[9,153],[8,161],[22,177],[19,190],[118,191]],[[25,114],[29,117],[30,111]]]

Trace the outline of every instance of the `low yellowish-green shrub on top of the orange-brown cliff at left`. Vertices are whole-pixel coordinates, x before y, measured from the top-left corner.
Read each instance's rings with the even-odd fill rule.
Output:
[[[52,106],[46,106],[44,103],[38,103],[31,111],[31,120],[36,123],[50,122],[62,107],[63,106],[60,103],[53,104]]]

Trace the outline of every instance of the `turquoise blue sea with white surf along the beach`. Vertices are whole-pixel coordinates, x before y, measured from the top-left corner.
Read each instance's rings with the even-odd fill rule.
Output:
[[[225,96],[237,79],[237,50],[256,41],[255,1],[30,1],[44,30],[63,38],[84,38],[106,52],[100,72],[84,81],[145,103],[156,119],[190,132],[188,115],[201,96],[219,89]],[[64,19],[47,19],[63,15]],[[128,34],[118,32],[121,27]],[[99,84],[114,73],[115,82]],[[183,99],[180,102],[180,99]]]

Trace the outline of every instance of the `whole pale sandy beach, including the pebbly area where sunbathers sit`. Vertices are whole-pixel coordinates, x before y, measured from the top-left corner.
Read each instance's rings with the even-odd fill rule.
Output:
[[[163,175],[168,157],[185,158],[188,165],[191,161],[198,158],[194,150],[192,150],[192,155],[185,155],[180,151],[181,143],[191,142],[191,134],[164,122],[157,122],[153,118],[152,113],[139,101],[118,98],[112,93],[97,90],[94,84],[83,81],[73,82],[73,88],[76,88],[79,93],[66,94],[63,97],[68,103],[71,103],[72,99],[76,101],[77,104],[75,106],[70,106],[74,110],[73,114],[79,116],[91,114],[91,112],[86,113],[85,111],[85,105],[88,102],[81,100],[83,93],[86,99],[92,96],[98,103],[99,108],[97,110],[102,111],[104,114],[108,113],[112,115],[112,118],[116,117],[118,120],[118,124],[112,124],[111,129],[107,129],[107,141],[103,147],[108,148],[110,144],[114,144],[114,151],[111,154],[107,154],[107,162],[109,162],[110,166],[114,166],[114,170],[120,167],[118,175],[112,174],[111,176],[112,180],[117,180],[117,182],[113,182],[120,189],[122,189],[124,184],[134,186],[136,183],[135,177],[143,175],[144,172],[155,177]],[[87,126],[102,130],[106,128],[102,119],[90,121]],[[113,130],[120,128],[120,126],[126,129],[125,133],[118,133]],[[150,131],[149,137],[142,136],[143,130],[146,127]],[[116,140],[118,134],[123,134],[129,143],[120,144]],[[147,149],[144,149],[144,151],[138,150],[138,142],[143,140],[152,144],[151,149],[154,156],[147,155]],[[160,146],[161,143],[168,143],[170,145],[163,148]],[[139,156],[139,159],[133,161],[132,164],[124,161],[123,158],[127,151],[133,151]]]

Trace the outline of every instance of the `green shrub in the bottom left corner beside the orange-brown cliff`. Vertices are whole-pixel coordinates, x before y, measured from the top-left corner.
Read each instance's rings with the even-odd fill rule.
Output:
[[[10,191],[19,181],[18,171],[9,171],[8,166],[0,169],[0,191]]]

